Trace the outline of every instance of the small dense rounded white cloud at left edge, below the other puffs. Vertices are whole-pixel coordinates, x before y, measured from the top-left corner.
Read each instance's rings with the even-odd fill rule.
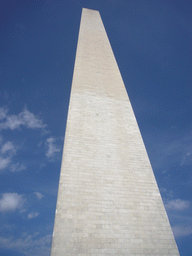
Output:
[[[24,202],[25,199],[22,195],[18,195],[17,193],[4,193],[0,199],[0,211],[16,211],[22,208]]]

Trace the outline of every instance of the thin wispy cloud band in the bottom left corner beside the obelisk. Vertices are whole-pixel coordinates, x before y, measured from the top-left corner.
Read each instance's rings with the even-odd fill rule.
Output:
[[[15,250],[26,256],[49,256],[51,248],[51,235],[40,237],[38,233],[23,234],[20,238],[0,237],[0,247]]]

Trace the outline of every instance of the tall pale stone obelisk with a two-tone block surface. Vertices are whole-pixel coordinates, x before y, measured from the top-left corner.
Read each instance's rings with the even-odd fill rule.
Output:
[[[83,9],[51,256],[179,255],[98,11]]]

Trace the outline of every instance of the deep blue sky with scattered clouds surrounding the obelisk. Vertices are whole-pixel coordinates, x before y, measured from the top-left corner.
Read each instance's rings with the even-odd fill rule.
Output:
[[[187,0],[1,0],[0,255],[50,253],[82,7],[100,11],[180,254],[192,255]]]

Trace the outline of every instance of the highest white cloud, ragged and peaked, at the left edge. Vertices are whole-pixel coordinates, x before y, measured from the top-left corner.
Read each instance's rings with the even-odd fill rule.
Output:
[[[18,115],[8,115],[6,112],[2,112],[2,119],[5,119],[0,123],[0,129],[19,129],[21,126],[26,126],[31,129],[43,129],[45,124],[42,120],[38,119],[33,113],[25,108]]]

